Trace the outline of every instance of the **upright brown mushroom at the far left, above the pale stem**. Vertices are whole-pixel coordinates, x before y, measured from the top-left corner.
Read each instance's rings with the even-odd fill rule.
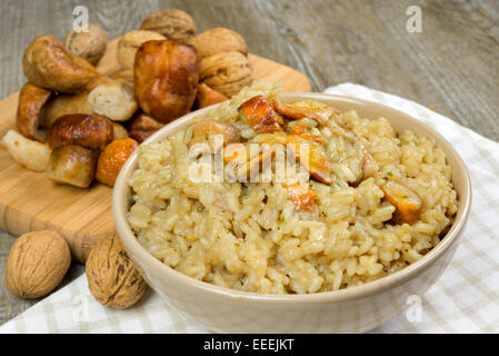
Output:
[[[38,141],[46,140],[46,132],[38,130],[40,111],[51,91],[38,88],[27,82],[19,92],[18,112],[16,115],[16,126],[24,137]]]

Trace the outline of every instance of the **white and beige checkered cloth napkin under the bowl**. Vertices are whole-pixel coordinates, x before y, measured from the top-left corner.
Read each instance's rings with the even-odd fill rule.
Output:
[[[420,105],[343,83],[326,92],[378,101],[439,131],[471,175],[471,214],[451,265],[423,296],[373,333],[499,333],[499,144]],[[59,289],[0,327],[0,333],[206,333],[150,291],[126,310],[99,305],[86,276]]]

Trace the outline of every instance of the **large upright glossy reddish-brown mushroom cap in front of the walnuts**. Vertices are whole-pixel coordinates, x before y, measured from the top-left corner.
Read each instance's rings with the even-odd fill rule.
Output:
[[[154,120],[170,122],[189,112],[198,89],[196,49],[170,40],[140,46],[133,65],[133,88],[140,108]]]

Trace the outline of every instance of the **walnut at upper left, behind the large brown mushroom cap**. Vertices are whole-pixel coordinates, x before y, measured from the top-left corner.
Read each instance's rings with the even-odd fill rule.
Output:
[[[66,37],[66,48],[72,56],[79,56],[96,66],[104,56],[108,37],[98,24],[89,23],[88,32],[77,32],[72,29]]]

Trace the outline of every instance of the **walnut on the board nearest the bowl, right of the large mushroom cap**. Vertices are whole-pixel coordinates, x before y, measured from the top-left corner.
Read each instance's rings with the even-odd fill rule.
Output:
[[[199,63],[199,79],[211,89],[230,98],[253,82],[253,70],[240,52],[223,52]]]

